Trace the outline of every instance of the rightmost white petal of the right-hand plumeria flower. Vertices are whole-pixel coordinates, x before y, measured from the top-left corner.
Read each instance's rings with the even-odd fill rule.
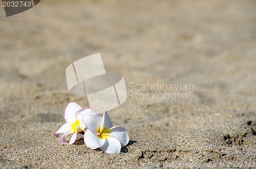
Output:
[[[126,146],[126,144],[129,142],[129,135],[125,128],[114,126],[110,129],[110,134],[114,135],[121,143],[121,147]]]

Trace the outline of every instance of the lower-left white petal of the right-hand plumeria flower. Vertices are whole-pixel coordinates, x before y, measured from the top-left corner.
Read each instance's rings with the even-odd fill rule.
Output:
[[[84,143],[92,150],[101,147],[105,143],[105,140],[104,136],[98,136],[91,132],[91,130],[87,130],[84,133]]]

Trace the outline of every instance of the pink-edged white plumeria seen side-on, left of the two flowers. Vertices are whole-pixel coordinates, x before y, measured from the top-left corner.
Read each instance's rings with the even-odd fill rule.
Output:
[[[54,133],[56,137],[59,137],[59,134],[64,133],[60,138],[59,138],[59,143],[66,145],[68,142],[65,140],[65,137],[67,135],[73,134],[72,137],[70,138],[69,143],[73,144],[76,140],[77,134],[83,134],[86,126],[82,122],[82,116],[84,114],[87,114],[91,111],[91,108],[89,107],[84,107],[81,108],[78,104],[74,102],[70,102],[63,113],[64,118],[66,119],[67,123],[64,124],[60,129]]]

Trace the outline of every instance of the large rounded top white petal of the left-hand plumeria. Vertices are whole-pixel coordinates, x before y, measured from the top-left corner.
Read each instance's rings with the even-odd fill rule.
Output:
[[[76,113],[78,110],[80,110],[80,109],[81,109],[81,107],[80,107],[78,104],[76,104],[76,103],[74,103],[74,102],[70,102],[70,103],[66,106],[66,108],[65,108],[65,110],[64,110],[64,113],[63,113],[63,116],[64,116],[64,118],[66,119],[66,121],[67,121],[68,123],[70,123],[70,124],[74,123],[74,122],[76,121],[76,119],[75,119],[75,113]]]

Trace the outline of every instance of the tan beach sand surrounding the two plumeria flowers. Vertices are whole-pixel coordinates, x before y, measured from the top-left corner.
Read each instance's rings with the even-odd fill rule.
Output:
[[[1,168],[252,167],[255,9],[252,0],[41,1],[6,17],[1,7]],[[89,150],[82,135],[71,146],[53,135],[69,102],[88,106],[69,94],[66,67],[99,52],[126,84],[194,85],[186,100],[130,98],[109,111],[131,140],[116,155]]]

